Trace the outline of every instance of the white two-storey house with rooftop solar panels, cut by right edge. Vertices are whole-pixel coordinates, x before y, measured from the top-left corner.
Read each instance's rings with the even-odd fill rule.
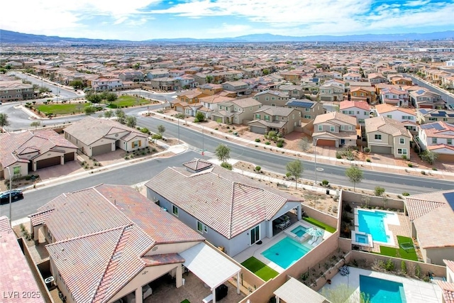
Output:
[[[438,160],[454,162],[454,124],[443,121],[422,124],[418,141],[422,150],[437,153]]]

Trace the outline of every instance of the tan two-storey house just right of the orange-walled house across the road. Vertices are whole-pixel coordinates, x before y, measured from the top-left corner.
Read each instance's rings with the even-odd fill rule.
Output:
[[[255,111],[262,106],[253,98],[233,99],[217,105],[218,109],[211,113],[211,120],[226,124],[246,124],[254,119]]]

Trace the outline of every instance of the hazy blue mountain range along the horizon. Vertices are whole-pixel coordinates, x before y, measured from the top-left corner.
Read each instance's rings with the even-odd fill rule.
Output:
[[[259,43],[259,42],[384,42],[413,40],[454,39],[454,31],[436,33],[395,33],[365,35],[309,35],[294,37],[290,35],[272,35],[269,33],[242,35],[235,38],[170,38],[144,41],[103,40],[88,38],[65,38],[48,35],[33,35],[14,31],[0,30],[0,43]]]

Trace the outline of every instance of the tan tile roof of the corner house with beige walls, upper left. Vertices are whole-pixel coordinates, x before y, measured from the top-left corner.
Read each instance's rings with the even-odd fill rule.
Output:
[[[126,135],[124,132],[126,132]],[[148,137],[146,134],[141,133],[134,128],[124,126],[117,121],[90,116],[65,128],[65,133],[69,133],[86,145],[90,145],[105,136],[120,133],[123,133],[122,139],[125,141],[131,140],[131,138],[135,136],[143,138]]]

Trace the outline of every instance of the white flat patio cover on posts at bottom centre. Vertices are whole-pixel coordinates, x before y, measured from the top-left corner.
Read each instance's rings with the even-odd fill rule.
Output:
[[[211,294],[204,299],[204,302],[211,302],[212,300],[213,303],[216,303],[216,287],[234,276],[236,276],[236,292],[240,294],[241,268],[214,248],[205,243],[199,243],[188,250],[184,250],[180,255],[185,260],[183,265],[199,277],[205,285],[208,285],[211,290]]]

